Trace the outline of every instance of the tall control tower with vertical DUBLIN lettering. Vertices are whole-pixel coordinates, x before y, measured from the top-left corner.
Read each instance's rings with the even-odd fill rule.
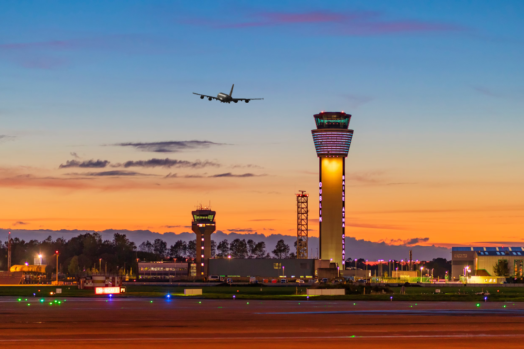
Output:
[[[353,130],[348,130],[351,115],[321,112],[313,116],[311,130],[319,157],[319,258],[345,269],[345,172]]]

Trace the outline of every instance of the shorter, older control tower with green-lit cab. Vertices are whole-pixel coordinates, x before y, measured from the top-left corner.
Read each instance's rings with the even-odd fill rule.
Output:
[[[211,258],[211,234],[215,232],[215,211],[208,207],[192,211],[191,230],[196,234],[196,279],[208,278],[208,262]]]

